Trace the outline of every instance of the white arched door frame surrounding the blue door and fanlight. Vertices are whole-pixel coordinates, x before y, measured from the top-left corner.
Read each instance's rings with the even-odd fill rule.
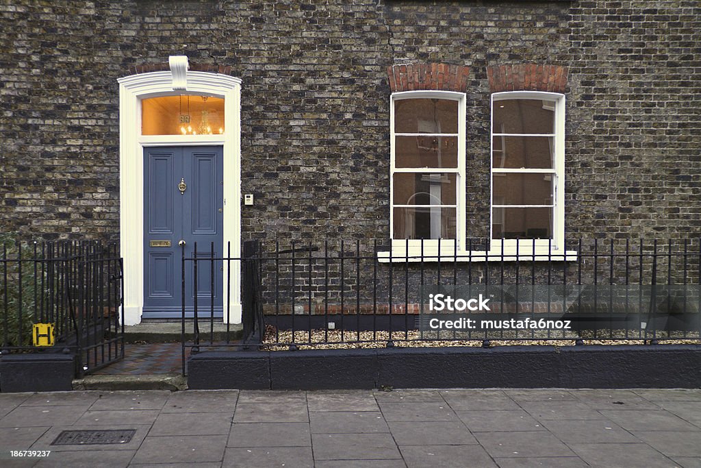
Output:
[[[186,66],[185,66],[186,69]],[[119,83],[119,229],[124,258],[124,323],[141,321],[144,307],[144,147],[221,145],[224,147],[224,232],[222,252],[231,243],[232,258],[240,258],[241,80],[207,72],[151,72],[125,76]],[[176,79],[174,80],[174,76]],[[176,90],[177,91],[174,91]],[[224,98],[224,135],[141,135],[141,101],[180,93],[214,95]],[[231,262],[231,297],[227,304],[224,262],[224,322],[240,323],[240,262]],[[229,315],[226,311],[229,310]]]

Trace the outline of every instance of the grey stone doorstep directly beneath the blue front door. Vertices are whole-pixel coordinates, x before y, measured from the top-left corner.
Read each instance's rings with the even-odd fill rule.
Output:
[[[215,321],[210,333],[210,321],[200,320],[200,341],[226,341],[227,328],[229,340],[236,341],[243,337],[243,325],[240,323],[222,323]],[[195,337],[192,320],[185,322],[185,340],[192,341]],[[143,321],[138,325],[124,327],[124,340],[127,343],[170,343],[182,339],[182,323],[180,321]]]

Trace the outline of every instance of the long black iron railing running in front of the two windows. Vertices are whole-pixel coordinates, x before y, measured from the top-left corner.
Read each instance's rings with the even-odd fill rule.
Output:
[[[393,254],[386,241],[250,241],[242,257],[183,258],[183,272],[241,262],[245,342],[208,346],[699,340],[698,239],[580,239],[562,250],[521,240],[518,255],[489,250],[486,239],[468,244],[439,258],[423,242]],[[463,309],[439,310],[438,297]],[[470,299],[486,310],[464,307]],[[440,321],[453,323],[432,327]],[[200,345],[196,335],[191,346]]]

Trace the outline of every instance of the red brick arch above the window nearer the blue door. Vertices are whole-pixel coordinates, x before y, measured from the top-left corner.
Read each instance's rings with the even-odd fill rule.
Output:
[[[470,68],[447,63],[410,63],[387,67],[390,89],[397,91],[458,91],[465,93]]]

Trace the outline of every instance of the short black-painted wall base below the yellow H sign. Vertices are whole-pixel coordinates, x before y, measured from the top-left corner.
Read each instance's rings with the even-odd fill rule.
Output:
[[[0,392],[72,390],[73,354],[7,354],[0,358]]]

